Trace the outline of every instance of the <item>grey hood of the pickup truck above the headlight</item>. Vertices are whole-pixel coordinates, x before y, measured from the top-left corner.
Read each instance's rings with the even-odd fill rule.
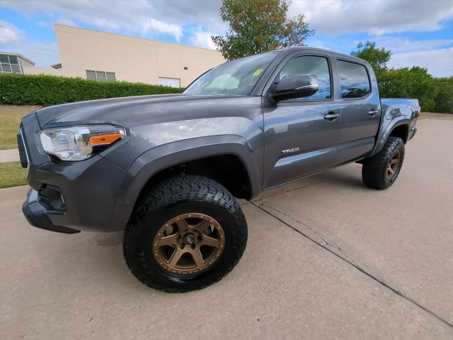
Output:
[[[244,97],[244,96],[240,96]],[[124,127],[225,115],[225,104],[238,97],[224,95],[154,95],[93,100],[49,106],[36,111],[41,128],[79,124]]]

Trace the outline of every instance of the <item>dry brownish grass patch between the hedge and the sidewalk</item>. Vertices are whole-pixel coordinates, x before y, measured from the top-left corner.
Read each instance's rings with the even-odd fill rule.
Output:
[[[16,135],[21,118],[41,106],[0,105],[0,150],[17,148]]]

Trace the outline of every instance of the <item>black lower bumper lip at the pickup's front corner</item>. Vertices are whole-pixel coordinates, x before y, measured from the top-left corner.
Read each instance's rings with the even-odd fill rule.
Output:
[[[64,234],[75,234],[80,233],[79,230],[68,228],[67,226],[55,226],[50,219],[48,214],[61,214],[61,212],[53,212],[47,210],[38,202],[38,192],[31,189],[28,192],[28,197],[22,204],[22,212],[28,223],[37,228],[46,229],[48,231],[56,231]]]

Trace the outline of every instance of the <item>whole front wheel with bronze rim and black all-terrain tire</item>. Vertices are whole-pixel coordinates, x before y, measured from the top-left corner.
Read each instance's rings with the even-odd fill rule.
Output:
[[[240,260],[247,223],[238,202],[218,182],[181,175],[142,199],[124,231],[124,258],[145,285],[188,292],[223,278]]]

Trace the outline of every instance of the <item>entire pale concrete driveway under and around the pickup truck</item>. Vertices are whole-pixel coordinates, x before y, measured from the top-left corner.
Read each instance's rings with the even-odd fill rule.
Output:
[[[389,190],[348,165],[243,202],[239,265],[205,290],[139,283],[122,234],[26,224],[0,191],[3,339],[453,339],[453,119],[419,122]]]

